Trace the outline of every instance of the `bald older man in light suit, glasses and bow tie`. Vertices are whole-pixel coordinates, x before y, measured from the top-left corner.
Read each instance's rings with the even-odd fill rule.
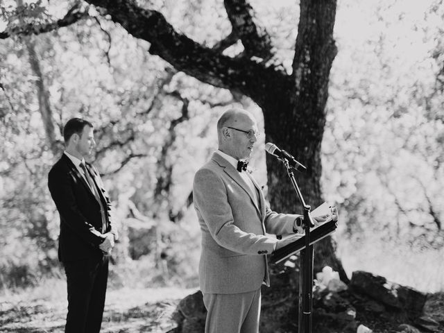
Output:
[[[302,233],[300,215],[266,207],[264,194],[244,169],[257,141],[255,119],[228,110],[217,123],[219,150],[194,178],[194,206],[202,232],[200,290],[207,308],[205,333],[257,333],[261,285],[269,286],[266,255],[294,241],[266,234]]]

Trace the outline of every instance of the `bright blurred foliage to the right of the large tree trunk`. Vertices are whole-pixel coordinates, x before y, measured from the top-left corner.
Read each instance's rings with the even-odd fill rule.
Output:
[[[443,9],[438,1],[342,3],[336,33],[360,34],[338,38],[323,142],[324,190],[341,203],[341,235],[350,239],[339,241],[341,257],[368,270],[375,266],[363,263],[376,260],[384,274],[418,286],[411,264],[393,262],[407,251],[425,264],[420,253],[436,258],[444,244]],[[432,263],[427,287],[437,290],[442,270]]]

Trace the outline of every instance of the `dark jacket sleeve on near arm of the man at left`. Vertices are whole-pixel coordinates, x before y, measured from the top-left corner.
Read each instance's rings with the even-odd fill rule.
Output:
[[[70,230],[87,243],[99,246],[105,237],[93,225],[89,224],[80,212],[71,186],[67,172],[62,172],[59,169],[49,171],[48,187],[57,210],[62,216],[62,223],[65,223]]]

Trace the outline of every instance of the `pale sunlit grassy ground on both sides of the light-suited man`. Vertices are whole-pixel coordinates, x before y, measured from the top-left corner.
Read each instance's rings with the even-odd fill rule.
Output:
[[[425,312],[444,321],[444,316],[441,316],[444,305],[444,248],[420,251],[405,245],[381,246],[380,242],[378,246],[373,246],[370,241],[365,244],[341,241],[338,244],[337,254],[349,277],[352,271],[369,271],[425,293],[436,293],[432,295],[436,300],[431,299]],[[175,325],[171,314],[178,301],[194,293],[197,288],[187,289],[190,284],[177,282],[180,280],[177,276],[176,279],[168,279],[168,287],[155,287],[165,285],[165,281],[155,278],[157,275],[149,278],[153,267],[144,262],[137,262],[137,266],[133,266],[119,266],[115,271],[121,274],[110,275],[101,332],[171,330]],[[66,308],[67,291],[63,276],[42,280],[36,287],[2,289],[0,332],[61,333],[64,331]]]

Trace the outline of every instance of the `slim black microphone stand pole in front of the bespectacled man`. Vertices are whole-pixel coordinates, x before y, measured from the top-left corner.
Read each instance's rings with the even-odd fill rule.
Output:
[[[299,264],[299,318],[298,318],[298,333],[311,333],[311,309],[313,307],[313,246],[310,245],[310,228],[314,227],[311,223],[310,210],[311,207],[305,203],[298,183],[294,178],[293,169],[289,165],[286,158],[282,158],[287,173],[293,184],[293,187],[298,194],[298,198],[302,207],[304,207],[304,219],[302,221],[302,228],[305,230],[305,248],[300,251]]]

